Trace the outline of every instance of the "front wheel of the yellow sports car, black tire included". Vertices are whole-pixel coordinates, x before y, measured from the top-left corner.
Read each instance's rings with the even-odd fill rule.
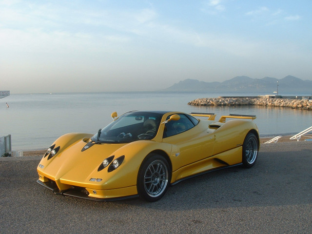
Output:
[[[171,173],[167,160],[151,154],[142,162],[137,175],[137,193],[145,201],[157,201],[167,191]]]

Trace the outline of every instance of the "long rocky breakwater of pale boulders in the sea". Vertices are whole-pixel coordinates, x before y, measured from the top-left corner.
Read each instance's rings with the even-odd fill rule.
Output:
[[[307,99],[284,98],[198,98],[190,101],[188,105],[195,106],[275,106],[293,109],[312,110],[312,101]]]

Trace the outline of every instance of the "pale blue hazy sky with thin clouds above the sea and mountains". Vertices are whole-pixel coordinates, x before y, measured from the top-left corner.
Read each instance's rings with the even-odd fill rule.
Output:
[[[0,0],[0,90],[312,80],[312,0]]]

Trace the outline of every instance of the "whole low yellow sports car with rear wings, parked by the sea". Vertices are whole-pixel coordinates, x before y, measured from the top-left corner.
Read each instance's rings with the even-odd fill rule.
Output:
[[[249,168],[257,159],[255,116],[131,111],[112,117],[95,135],[59,137],[38,165],[37,182],[91,200],[156,201],[170,184],[220,168]]]

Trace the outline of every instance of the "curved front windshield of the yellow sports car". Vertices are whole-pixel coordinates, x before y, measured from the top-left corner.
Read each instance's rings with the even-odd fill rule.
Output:
[[[92,141],[128,143],[153,139],[156,136],[162,114],[129,112],[107,125],[91,137]]]

